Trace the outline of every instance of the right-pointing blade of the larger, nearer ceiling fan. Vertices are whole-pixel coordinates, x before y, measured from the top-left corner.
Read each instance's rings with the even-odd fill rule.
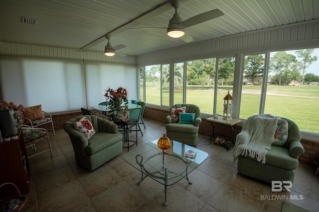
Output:
[[[180,22],[178,25],[187,28],[211,20],[213,18],[217,18],[222,15],[224,15],[222,11],[220,11],[219,9],[214,9],[208,12],[201,13],[199,15],[195,15],[194,17],[188,18],[187,20]]]

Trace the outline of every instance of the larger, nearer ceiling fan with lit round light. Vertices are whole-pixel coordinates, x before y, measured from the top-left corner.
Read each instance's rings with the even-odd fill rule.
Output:
[[[217,18],[224,15],[219,9],[210,10],[198,15],[195,15],[186,20],[182,20],[177,12],[181,0],[171,0],[170,1],[173,8],[175,8],[175,13],[173,17],[169,20],[167,27],[167,35],[172,38],[181,38],[186,43],[193,41],[193,38],[185,32],[185,28]],[[147,27],[147,28],[130,28],[130,29],[154,29],[154,28],[163,28],[163,27]],[[166,29],[166,28],[165,28]]]

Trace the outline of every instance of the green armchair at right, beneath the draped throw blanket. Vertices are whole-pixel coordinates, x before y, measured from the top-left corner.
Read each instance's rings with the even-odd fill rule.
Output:
[[[282,146],[271,145],[266,154],[266,163],[258,162],[250,156],[238,156],[238,172],[267,183],[273,180],[287,180],[294,182],[298,158],[305,153],[301,144],[301,136],[295,122],[281,118],[288,122],[288,139]],[[244,134],[242,131],[240,134]],[[239,134],[238,134],[239,135]],[[246,134],[247,135],[247,134]]]

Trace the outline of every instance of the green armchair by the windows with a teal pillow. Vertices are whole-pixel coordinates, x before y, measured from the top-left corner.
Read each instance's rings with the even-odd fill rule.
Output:
[[[166,136],[174,141],[179,141],[187,145],[196,145],[198,140],[198,130],[201,123],[200,109],[194,104],[175,104],[171,108],[186,107],[186,113],[195,113],[194,123],[172,123],[169,114],[166,120]]]

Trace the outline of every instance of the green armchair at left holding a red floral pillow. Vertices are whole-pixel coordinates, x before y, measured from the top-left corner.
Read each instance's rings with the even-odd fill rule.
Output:
[[[83,116],[69,119],[63,129],[69,134],[76,162],[89,170],[94,170],[122,153],[122,134],[111,121],[95,115],[85,115],[96,133],[89,140],[73,127],[73,122]]]

